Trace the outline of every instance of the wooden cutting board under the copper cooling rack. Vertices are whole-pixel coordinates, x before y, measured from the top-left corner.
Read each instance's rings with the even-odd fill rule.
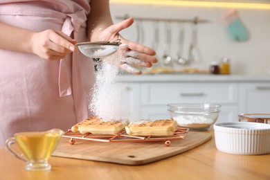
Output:
[[[143,165],[168,158],[209,141],[212,138],[206,132],[188,132],[185,139],[171,140],[169,147],[164,141],[136,143],[103,143],[76,140],[69,144],[70,138],[62,138],[53,156],[91,161],[120,163],[125,165]]]

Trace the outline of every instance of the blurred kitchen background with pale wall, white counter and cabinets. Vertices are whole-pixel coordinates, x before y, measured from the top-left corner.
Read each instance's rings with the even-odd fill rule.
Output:
[[[154,48],[160,63],[153,69],[165,70],[119,75],[134,119],[170,118],[170,103],[222,105],[217,122],[237,121],[239,114],[270,113],[270,1],[111,0],[110,4],[115,23],[135,19],[121,35]],[[195,60],[190,60],[194,35]],[[177,53],[190,61],[178,63]],[[165,63],[163,55],[172,63]],[[209,74],[212,63],[221,67],[224,57],[230,60],[231,72]]]

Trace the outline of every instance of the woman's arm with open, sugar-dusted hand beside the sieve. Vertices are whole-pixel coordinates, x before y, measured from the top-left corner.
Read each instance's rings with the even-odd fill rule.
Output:
[[[152,48],[131,42],[119,34],[121,30],[131,26],[134,19],[129,18],[118,24],[113,24],[109,11],[109,0],[91,0],[90,6],[91,12],[87,21],[89,41],[114,41],[121,39],[122,43],[117,52],[117,58],[108,57],[102,60],[106,60],[134,74],[141,74],[142,72],[132,67],[133,65],[151,67],[152,63],[157,62],[156,57],[154,57],[156,53]]]

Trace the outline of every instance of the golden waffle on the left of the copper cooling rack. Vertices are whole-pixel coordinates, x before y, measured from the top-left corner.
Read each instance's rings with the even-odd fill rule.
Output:
[[[125,128],[122,120],[105,121],[101,118],[90,117],[71,127],[72,132],[81,134],[118,134]]]

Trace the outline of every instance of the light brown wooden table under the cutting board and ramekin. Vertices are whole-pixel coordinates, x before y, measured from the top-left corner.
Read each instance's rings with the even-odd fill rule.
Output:
[[[211,131],[213,133],[213,131]],[[48,172],[24,170],[24,161],[0,149],[0,179],[270,179],[270,154],[219,152],[213,138],[168,159],[146,165],[119,165],[51,156]]]

